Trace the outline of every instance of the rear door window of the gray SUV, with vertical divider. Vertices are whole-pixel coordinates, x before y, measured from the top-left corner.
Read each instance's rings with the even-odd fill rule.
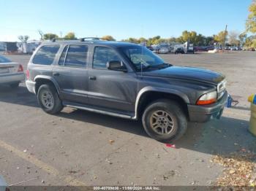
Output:
[[[69,45],[66,46],[59,59],[59,65],[85,67],[87,61],[88,46]]]

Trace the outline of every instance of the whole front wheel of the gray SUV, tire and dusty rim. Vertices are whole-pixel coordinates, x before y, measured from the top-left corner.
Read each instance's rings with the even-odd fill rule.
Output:
[[[142,122],[148,136],[164,143],[180,139],[187,130],[187,117],[183,109],[175,101],[167,99],[150,104],[143,113]],[[168,122],[169,125],[166,125]],[[160,126],[161,124],[163,126]],[[153,128],[154,125],[157,128]],[[165,129],[164,133],[162,132],[163,128]]]

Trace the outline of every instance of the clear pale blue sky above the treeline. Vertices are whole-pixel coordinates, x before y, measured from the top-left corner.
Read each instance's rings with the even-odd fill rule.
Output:
[[[111,35],[117,40],[161,36],[182,31],[211,36],[225,30],[243,32],[252,0],[0,0],[0,41],[19,35],[77,37]]]

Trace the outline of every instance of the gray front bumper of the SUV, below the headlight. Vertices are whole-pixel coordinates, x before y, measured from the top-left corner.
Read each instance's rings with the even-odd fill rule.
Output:
[[[211,117],[220,118],[227,101],[227,92],[215,104],[207,106],[188,105],[190,122],[207,122]]]

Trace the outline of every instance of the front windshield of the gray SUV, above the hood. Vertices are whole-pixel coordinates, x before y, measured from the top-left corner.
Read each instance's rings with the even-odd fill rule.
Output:
[[[121,47],[122,52],[129,58],[135,69],[162,69],[163,66],[170,66],[162,58],[155,55],[151,50],[142,46]]]

